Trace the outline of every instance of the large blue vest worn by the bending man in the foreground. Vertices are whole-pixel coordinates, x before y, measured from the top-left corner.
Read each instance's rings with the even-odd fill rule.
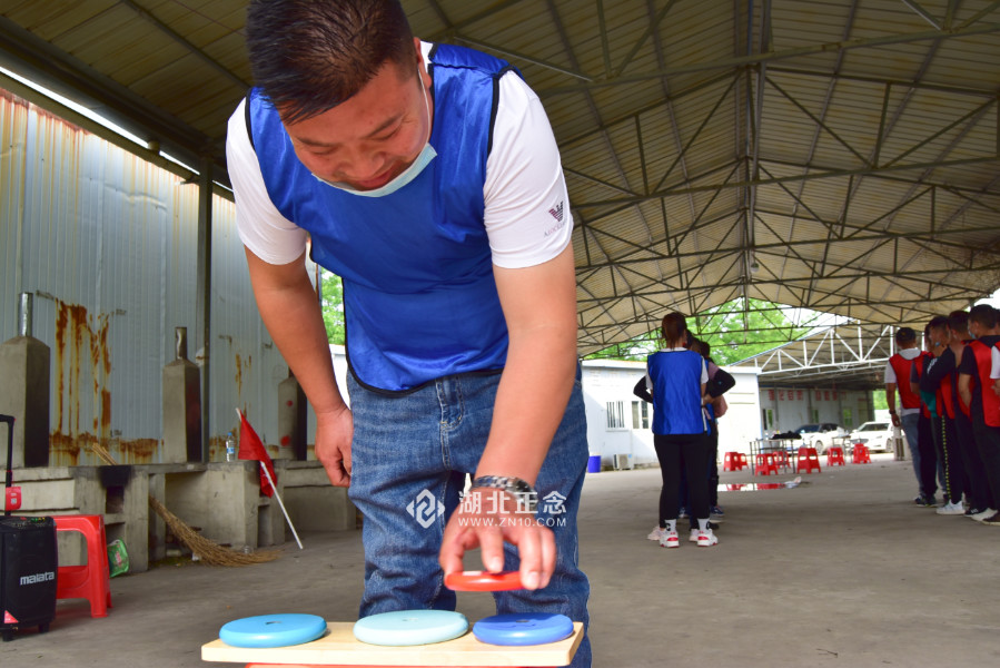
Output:
[[[263,91],[247,97],[270,200],[309,233],[313,261],[343,279],[348,363],[363,385],[407,391],[443,375],[499,370],[506,361],[483,185],[499,78],[508,69],[469,49],[434,48],[437,157],[385,197],[317,180]]]

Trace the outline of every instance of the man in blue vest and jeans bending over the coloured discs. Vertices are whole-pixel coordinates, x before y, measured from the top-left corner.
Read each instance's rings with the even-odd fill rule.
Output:
[[[444,576],[481,547],[521,572],[499,612],[586,623],[572,217],[537,96],[501,60],[414,39],[397,0],[255,0],[246,32],[237,224],[316,455],[364,513],[360,615],[454,609]],[[307,238],[344,283],[349,409]]]

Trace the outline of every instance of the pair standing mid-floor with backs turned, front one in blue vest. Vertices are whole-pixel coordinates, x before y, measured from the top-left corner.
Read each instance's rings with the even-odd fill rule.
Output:
[[[725,412],[723,393],[735,380],[716,366],[709,344],[687,330],[684,314],[667,313],[661,323],[663,350],[647,360],[634,393],[653,404],[653,446],[660,461],[660,521],[647,538],[679,548],[677,521],[691,521],[689,540],[707,548],[719,543],[713,528],[723,519],[717,502],[719,431]]]

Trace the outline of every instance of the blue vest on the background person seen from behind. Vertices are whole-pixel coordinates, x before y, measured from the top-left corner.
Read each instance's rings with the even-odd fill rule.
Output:
[[[703,366],[704,358],[694,351],[650,355],[647,372],[653,381],[654,434],[702,434],[709,431],[702,413]]]

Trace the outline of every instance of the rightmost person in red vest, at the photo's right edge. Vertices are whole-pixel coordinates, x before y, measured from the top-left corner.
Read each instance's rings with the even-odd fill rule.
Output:
[[[992,351],[1000,343],[1000,313],[989,304],[969,312],[969,334],[976,337],[962,352],[958,390],[972,421],[976,448],[987,480],[986,508],[972,519],[1000,527],[1000,396],[990,382]]]

